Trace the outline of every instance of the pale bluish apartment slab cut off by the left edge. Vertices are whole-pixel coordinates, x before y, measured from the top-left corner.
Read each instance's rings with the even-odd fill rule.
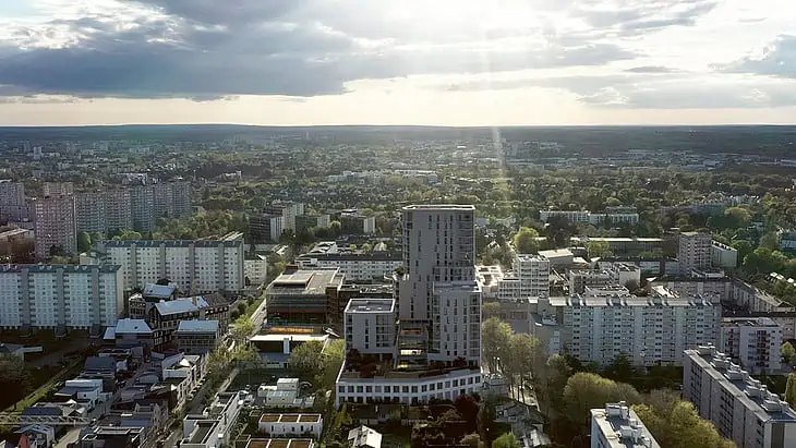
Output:
[[[123,312],[119,266],[0,266],[0,328],[98,329]]]

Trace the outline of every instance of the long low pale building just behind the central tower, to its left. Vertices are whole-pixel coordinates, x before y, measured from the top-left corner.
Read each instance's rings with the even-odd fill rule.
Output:
[[[346,280],[359,282],[384,281],[393,273],[403,266],[400,255],[387,252],[371,253],[325,253],[302,254],[296,258],[302,269],[340,269]]]

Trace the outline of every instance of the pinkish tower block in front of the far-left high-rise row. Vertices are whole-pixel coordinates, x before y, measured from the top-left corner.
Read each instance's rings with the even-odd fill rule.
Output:
[[[49,259],[53,251],[75,253],[77,232],[74,196],[46,196],[31,202],[36,232],[36,258]]]

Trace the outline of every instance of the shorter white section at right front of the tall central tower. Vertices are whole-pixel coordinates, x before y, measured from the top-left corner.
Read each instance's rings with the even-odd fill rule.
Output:
[[[481,364],[481,287],[474,281],[434,283],[431,361]]]

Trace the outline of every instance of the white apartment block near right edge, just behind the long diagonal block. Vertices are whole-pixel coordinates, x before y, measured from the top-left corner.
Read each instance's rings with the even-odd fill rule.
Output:
[[[725,317],[719,349],[752,375],[782,370],[782,329],[771,318]]]

